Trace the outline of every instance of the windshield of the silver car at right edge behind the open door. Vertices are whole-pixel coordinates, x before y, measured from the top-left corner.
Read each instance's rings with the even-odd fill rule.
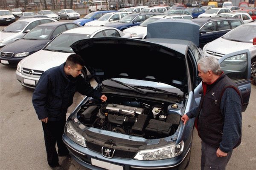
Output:
[[[226,40],[244,42],[244,43],[252,43],[253,38],[256,37],[256,26],[254,25],[241,25],[236,29],[228,32],[222,38]]]

